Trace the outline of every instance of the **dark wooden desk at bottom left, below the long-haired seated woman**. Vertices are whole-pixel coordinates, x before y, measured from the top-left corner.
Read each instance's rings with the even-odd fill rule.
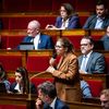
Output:
[[[36,95],[0,94],[0,105],[25,105],[26,109],[35,108]]]

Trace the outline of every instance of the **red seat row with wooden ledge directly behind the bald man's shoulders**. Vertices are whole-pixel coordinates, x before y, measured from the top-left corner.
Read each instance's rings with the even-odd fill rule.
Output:
[[[72,29],[72,31],[41,31],[44,34],[47,34],[52,37],[53,43],[59,37],[68,37],[74,45],[75,49],[80,49],[80,41],[83,36],[90,35],[94,40],[99,40],[105,35],[105,29]],[[1,49],[12,48],[15,49],[17,45],[26,36],[25,29],[14,29],[14,31],[1,31]]]

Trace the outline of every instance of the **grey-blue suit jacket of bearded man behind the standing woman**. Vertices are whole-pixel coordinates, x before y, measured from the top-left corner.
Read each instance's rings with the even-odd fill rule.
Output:
[[[83,56],[78,57],[78,66],[81,68]],[[105,57],[98,52],[92,52],[86,64],[86,72],[93,73],[105,73]]]

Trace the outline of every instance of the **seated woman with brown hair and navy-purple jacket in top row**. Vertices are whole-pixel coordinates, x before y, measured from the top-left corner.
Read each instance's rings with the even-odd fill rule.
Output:
[[[80,28],[80,17],[70,3],[63,3],[60,8],[60,16],[55,25],[47,25],[46,29],[72,29]]]

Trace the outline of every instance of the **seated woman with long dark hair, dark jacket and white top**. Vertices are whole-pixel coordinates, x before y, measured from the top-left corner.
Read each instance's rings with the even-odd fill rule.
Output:
[[[11,84],[10,92],[17,94],[36,94],[34,84],[29,84],[27,70],[25,68],[17,68],[15,71],[15,82]]]

